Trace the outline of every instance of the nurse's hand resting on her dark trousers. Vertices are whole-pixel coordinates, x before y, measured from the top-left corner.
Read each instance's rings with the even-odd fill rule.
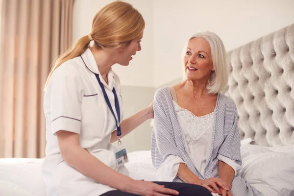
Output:
[[[126,189],[126,192],[140,196],[177,196],[179,194],[175,190],[143,180],[132,181]]]

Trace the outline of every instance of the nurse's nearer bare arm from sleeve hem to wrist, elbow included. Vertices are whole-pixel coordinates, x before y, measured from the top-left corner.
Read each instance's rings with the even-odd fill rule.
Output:
[[[57,132],[62,158],[74,169],[98,183],[124,191],[133,180],[106,166],[79,145],[79,135],[68,131]]]

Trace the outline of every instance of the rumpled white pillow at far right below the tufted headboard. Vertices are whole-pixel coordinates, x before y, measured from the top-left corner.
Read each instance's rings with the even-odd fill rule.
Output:
[[[294,156],[273,151],[249,154],[241,176],[264,196],[293,196]]]

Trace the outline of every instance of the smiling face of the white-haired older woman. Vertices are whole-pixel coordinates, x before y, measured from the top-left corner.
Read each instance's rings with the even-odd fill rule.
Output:
[[[190,80],[207,81],[214,71],[211,49],[203,38],[192,38],[187,46],[185,56],[185,75]]]

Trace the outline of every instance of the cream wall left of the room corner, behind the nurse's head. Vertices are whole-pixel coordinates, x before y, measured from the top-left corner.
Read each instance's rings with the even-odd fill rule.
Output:
[[[95,14],[114,0],[75,0],[73,9],[73,42],[88,35]],[[137,8],[146,23],[142,50],[137,52],[128,67],[115,65],[113,70],[119,74],[125,86],[154,87],[154,39],[153,39],[153,0],[125,0]]]

